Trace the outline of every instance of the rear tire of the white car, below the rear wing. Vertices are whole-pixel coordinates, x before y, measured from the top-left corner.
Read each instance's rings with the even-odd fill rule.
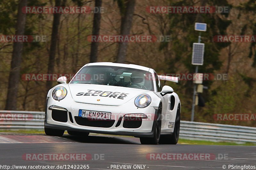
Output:
[[[172,135],[162,135],[159,144],[177,144],[180,136],[180,105],[177,108],[175,125]]]

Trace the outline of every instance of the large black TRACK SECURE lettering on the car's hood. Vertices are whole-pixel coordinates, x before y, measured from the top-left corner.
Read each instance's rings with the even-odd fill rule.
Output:
[[[87,90],[88,92],[79,92],[76,96],[101,96],[101,97],[113,97],[115,99],[124,99],[129,93],[121,92],[109,92],[99,90]]]

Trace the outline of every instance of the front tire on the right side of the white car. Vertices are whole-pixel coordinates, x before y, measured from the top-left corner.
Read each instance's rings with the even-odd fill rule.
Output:
[[[154,137],[140,137],[141,144],[158,144],[162,126],[162,103],[157,110],[157,119],[154,126]]]

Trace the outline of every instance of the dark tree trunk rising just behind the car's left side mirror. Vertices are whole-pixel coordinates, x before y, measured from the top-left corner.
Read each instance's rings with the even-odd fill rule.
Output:
[[[61,5],[61,0],[55,0],[55,6],[60,6],[60,5]],[[53,14],[52,37],[51,37],[48,71],[47,71],[47,74],[50,74],[50,75],[54,72],[56,44],[57,44],[59,25],[60,25],[60,15],[61,15],[60,13]],[[52,80],[50,79],[46,82],[46,89],[49,90],[51,88],[52,88]]]

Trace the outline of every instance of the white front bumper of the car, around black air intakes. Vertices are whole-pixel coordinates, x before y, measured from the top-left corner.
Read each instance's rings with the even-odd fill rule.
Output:
[[[53,119],[52,110],[49,110],[49,107],[52,105],[67,109],[66,121],[60,122],[56,121],[56,119]],[[108,127],[97,127],[97,123],[101,122],[97,122],[97,120],[94,120],[95,122],[91,123],[95,123],[96,125],[87,126],[86,123],[83,123],[83,121],[85,121],[86,118],[78,117],[79,109],[111,112],[112,124]],[[138,128],[127,128],[127,126],[124,125],[124,115],[136,113],[143,113],[145,115],[148,115],[149,118],[141,119],[141,125]],[[133,101],[127,102],[122,106],[106,106],[78,103],[73,101],[72,98],[69,97],[66,97],[65,99],[60,101],[53,100],[51,97],[49,97],[46,103],[44,127],[51,129],[63,129],[101,134],[113,134],[134,137],[153,137],[153,127],[155,126],[155,120],[152,118],[154,117],[152,115],[155,115],[156,113],[157,112],[154,107],[148,106],[146,108],[137,108],[135,107]],[[120,121],[121,117],[122,120]]]

